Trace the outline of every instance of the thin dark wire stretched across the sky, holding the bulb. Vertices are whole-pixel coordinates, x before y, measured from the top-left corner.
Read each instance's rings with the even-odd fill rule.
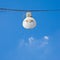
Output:
[[[0,11],[16,11],[16,12],[56,12],[60,11],[60,9],[54,9],[54,10],[18,10],[18,9],[8,9],[8,8],[0,8]]]

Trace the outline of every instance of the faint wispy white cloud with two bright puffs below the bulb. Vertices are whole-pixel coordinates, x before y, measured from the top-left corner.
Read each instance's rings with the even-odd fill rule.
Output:
[[[28,47],[46,47],[48,45],[48,36],[44,36],[42,39],[36,39],[34,37],[29,37],[28,42],[25,42],[24,40],[20,41],[20,47],[22,46],[28,46]]]

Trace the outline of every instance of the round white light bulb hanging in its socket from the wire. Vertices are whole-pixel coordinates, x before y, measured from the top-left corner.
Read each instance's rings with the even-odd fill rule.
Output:
[[[32,29],[36,26],[36,21],[32,17],[31,12],[26,13],[26,18],[23,20],[22,25],[25,29]]]

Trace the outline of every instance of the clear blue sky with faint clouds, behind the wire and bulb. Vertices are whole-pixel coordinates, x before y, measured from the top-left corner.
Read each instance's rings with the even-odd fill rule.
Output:
[[[59,0],[0,0],[0,8],[60,9]],[[0,11],[0,60],[60,60],[60,12],[32,12],[36,28],[22,27],[25,12]]]

